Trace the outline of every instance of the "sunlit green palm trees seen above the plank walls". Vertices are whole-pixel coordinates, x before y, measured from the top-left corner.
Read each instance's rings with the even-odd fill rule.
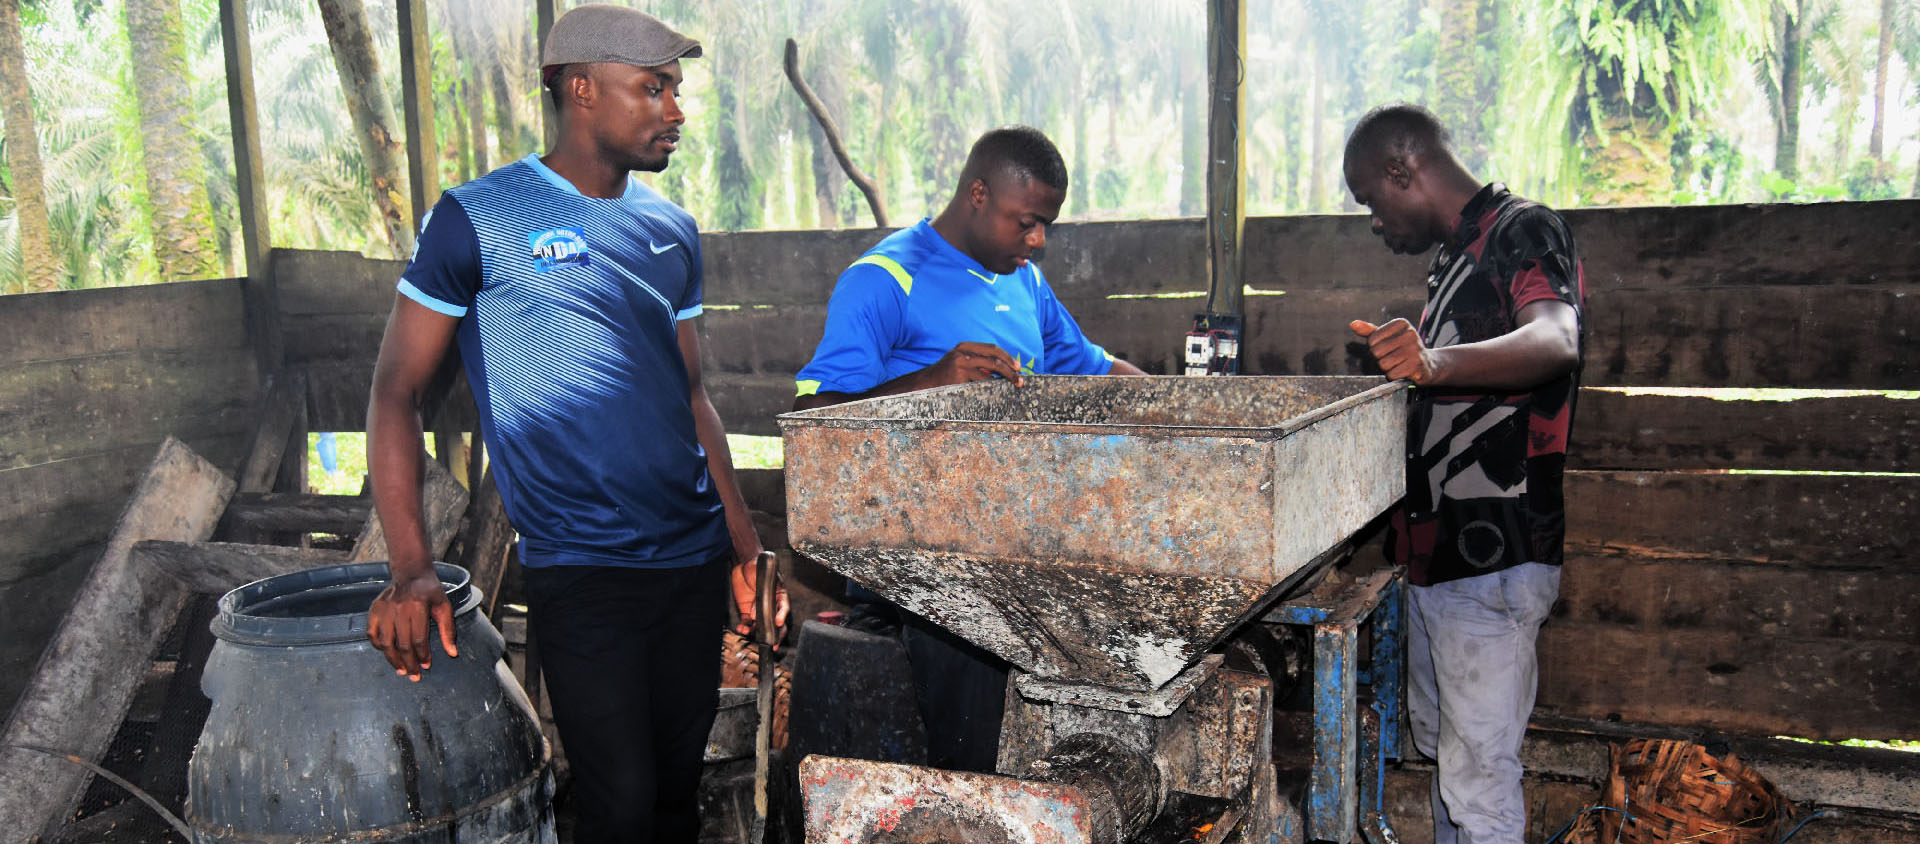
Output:
[[[6,6],[0,290],[234,274],[217,2]],[[538,152],[532,4],[428,6],[442,184]],[[1068,219],[1202,209],[1200,0],[641,6],[707,44],[687,140],[651,178],[708,230],[872,224],[781,73],[789,36],[893,224],[935,209],[1002,123],[1060,142]],[[392,0],[250,10],[273,244],[405,255]],[[1248,211],[1352,211],[1344,130],[1392,100],[1434,107],[1476,173],[1561,207],[1910,196],[1916,63],[1914,0],[1250,2]]]

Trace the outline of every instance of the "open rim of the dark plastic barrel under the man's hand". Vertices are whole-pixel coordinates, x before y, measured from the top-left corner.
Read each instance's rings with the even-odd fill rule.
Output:
[[[447,600],[453,604],[455,618],[474,612],[480,606],[480,587],[472,585],[472,575],[465,568],[449,562],[434,562],[434,574],[447,587]],[[286,646],[365,641],[367,610],[309,618],[252,616],[246,610],[265,600],[307,589],[386,581],[386,562],[348,562],[263,577],[221,595],[219,616],[213,618],[209,627],[217,639],[234,645]]]

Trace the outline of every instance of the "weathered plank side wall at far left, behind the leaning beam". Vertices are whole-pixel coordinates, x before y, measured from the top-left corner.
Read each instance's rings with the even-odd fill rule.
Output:
[[[257,372],[240,280],[0,307],[0,712],[167,435],[234,472]]]

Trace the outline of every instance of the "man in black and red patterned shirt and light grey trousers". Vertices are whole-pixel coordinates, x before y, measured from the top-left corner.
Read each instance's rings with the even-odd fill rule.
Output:
[[[1419,326],[1352,322],[1390,378],[1415,384],[1388,554],[1411,581],[1407,710],[1413,744],[1438,762],[1434,840],[1519,844],[1534,637],[1567,535],[1580,253],[1553,209],[1467,173],[1419,106],[1359,119],[1346,184],[1388,249],[1440,246]]]

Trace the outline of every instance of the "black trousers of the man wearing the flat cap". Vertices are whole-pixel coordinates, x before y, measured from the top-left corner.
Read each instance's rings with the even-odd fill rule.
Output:
[[[526,570],[528,623],[574,777],[576,842],[699,838],[730,562]]]

